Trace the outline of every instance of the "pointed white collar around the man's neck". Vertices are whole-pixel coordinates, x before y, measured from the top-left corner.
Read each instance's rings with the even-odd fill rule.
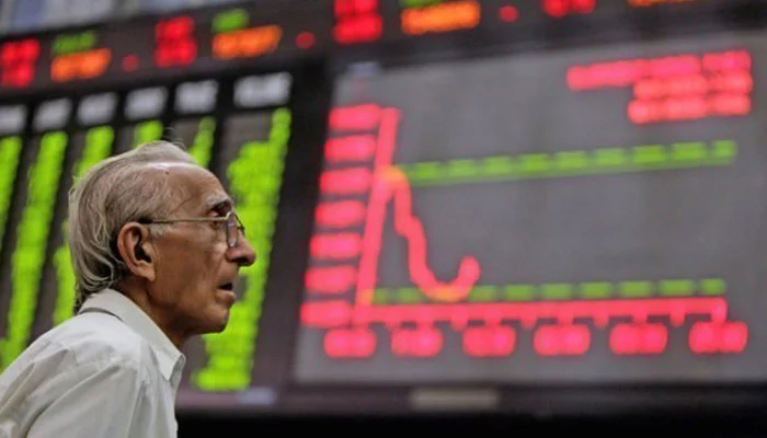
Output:
[[[125,295],[114,289],[104,289],[91,295],[83,302],[80,313],[87,309],[101,309],[113,313],[144,337],[160,362],[160,372],[174,389],[178,389],[186,358],[141,308]]]

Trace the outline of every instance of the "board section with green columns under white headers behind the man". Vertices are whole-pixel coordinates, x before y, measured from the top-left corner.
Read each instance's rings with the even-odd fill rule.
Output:
[[[0,229],[7,230],[0,265],[0,369],[72,315],[75,277],[65,233],[72,177],[114,153],[167,139],[184,145],[198,164],[219,176],[260,261],[240,272],[240,300],[228,330],[186,347],[182,391],[248,388],[291,139],[291,89],[293,74],[277,71],[56,97],[32,108],[28,130],[26,106],[0,108]],[[22,136],[24,131],[31,135]]]

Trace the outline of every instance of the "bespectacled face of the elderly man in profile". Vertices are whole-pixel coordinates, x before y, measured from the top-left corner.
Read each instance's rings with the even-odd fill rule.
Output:
[[[170,206],[168,219],[220,218],[232,210],[229,196],[210,172],[176,166],[171,177],[184,196]],[[255,262],[253,247],[243,235],[236,247],[229,247],[225,222],[165,227],[162,235],[152,239],[156,279],[149,295],[154,307],[168,328],[183,336],[222,331],[236,300],[232,288],[238,270]]]

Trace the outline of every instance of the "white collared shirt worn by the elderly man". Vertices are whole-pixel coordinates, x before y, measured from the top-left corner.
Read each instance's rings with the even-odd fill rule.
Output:
[[[106,289],[0,374],[0,438],[169,438],[183,354]]]

